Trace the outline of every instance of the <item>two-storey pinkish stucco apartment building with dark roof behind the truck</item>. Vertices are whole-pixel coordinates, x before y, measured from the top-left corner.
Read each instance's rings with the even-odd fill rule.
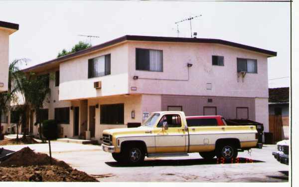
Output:
[[[161,110],[250,119],[268,132],[267,58],[276,55],[219,39],[126,35],[23,71],[54,75],[39,118],[58,120],[61,137],[100,140]]]

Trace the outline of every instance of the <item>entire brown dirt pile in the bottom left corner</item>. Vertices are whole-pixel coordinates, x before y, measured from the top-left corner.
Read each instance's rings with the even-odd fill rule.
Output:
[[[32,182],[98,182],[94,177],[72,169],[63,161],[26,147],[0,163],[0,181]]]

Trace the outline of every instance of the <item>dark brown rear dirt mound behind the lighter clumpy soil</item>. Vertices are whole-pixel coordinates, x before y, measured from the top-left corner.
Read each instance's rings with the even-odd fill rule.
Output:
[[[11,155],[10,158],[0,163],[0,167],[21,167],[21,166],[41,166],[49,165],[50,157],[47,154],[35,153],[26,147]],[[70,168],[63,161],[52,158],[52,164],[63,168]]]

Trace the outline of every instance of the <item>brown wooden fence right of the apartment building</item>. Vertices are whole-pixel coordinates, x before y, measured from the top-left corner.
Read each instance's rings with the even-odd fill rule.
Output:
[[[283,120],[282,116],[269,115],[269,132],[273,133],[273,143],[282,140]]]

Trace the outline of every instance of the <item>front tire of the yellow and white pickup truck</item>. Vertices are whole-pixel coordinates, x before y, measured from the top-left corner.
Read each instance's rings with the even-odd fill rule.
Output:
[[[124,160],[129,165],[139,165],[145,160],[145,153],[139,146],[128,146],[124,150]]]

